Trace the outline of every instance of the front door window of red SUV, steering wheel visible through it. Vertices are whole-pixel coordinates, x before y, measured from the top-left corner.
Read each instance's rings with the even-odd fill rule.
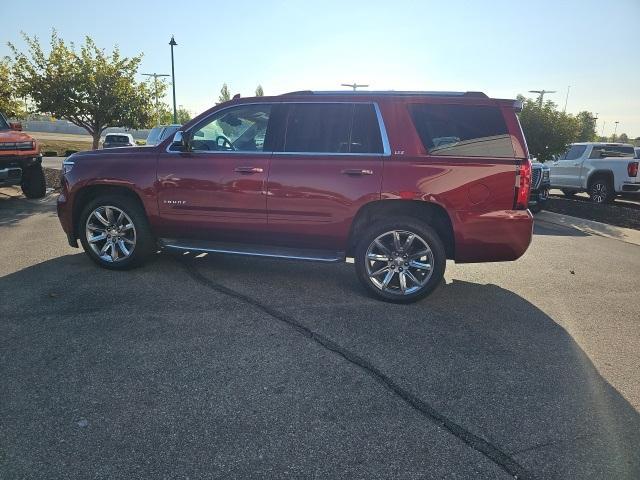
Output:
[[[262,152],[271,105],[239,105],[222,110],[196,126],[191,139],[195,152]]]

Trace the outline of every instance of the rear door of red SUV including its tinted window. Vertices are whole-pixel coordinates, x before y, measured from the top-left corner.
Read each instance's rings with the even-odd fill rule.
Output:
[[[272,243],[341,251],[358,209],[380,198],[377,105],[289,103],[284,123],[267,185]]]

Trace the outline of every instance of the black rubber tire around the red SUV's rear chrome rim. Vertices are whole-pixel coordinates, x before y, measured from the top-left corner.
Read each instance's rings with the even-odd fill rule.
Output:
[[[393,231],[415,235],[416,237],[414,237],[413,242],[416,243],[412,243],[407,252],[402,251],[402,249],[395,252],[398,255],[394,257],[393,261],[368,260],[367,252],[369,251],[369,248],[373,246],[375,240],[379,239],[383,235],[389,234],[391,234],[390,238],[392,239],[393,234],[391,232]],[[400,235],[402,235],[402,233],[400,233]],[[382,240],[384,241],[385,238],[386,237],[383,237]],[[401,236],[401,239],[402,238],[403,237]],[[404,237],[405,241],[402,241],[401,243],[405,243],[407,238],[408,235],[407,237]],[[429,247],[431,251],[430,255],[432,258],[430,259],[429,257],[422,256],[420,258],[417,258],[415,261],[422,263],[424,261],[421,260],[421,258],[426,257],[426,261],[431,262],[432,268],[430,270],[430,273],[428,273],[424,268],[411,270],[414,267],[412,267],[410,263],[401,263],[407,261],[402,260],[403,255],[410,258],[411,253],[415,255],[418,251],[421,251],[417,250],[418,247],[422,247],[422,244],[420,242],[425,243]],[[393,253],[393,251],[389,251],[389,254]],[[384,220],[374,223],[360,235],[360,240],[358,241],[355,249],[356,273],[362,285],[364,285],[367,292],[373,297],[393,303],[412,303],[429,295],[442,281],[442,277],[444,275],[444,270],[446,267],[446,260],[447,256],[444,245],[436,231],[425,222],[412,217],[400,217],[395,220]],[[424,265],[424,263],[422,264]],[[392,274],[391,280],[388,282],[387,289],[382,288],[382,286],[380,285],[381,283],[384,283],[384,279],[382,281],[375,280],[378,282],[378,285],[376,285],[369,274],[371,270],[378,271],[380,270],[380,268],[384,269],[385,265],[389,268],[389,272],[385,272],[384,274],[385,278],[390,273],[390,271],[394,272]],[[406,265],[409,265],[409,267],[407,267]],[[401,291],[402,284],[400,281],[400,271],[404,272],[402,274],[402,277],[405,278],[404,281],[406,287],[408,287],[409,285],[418,287],[419,285],[411,280],[409,280],[409,283],[407,283],[407,279],[409,279],[409,277],[407,276],[408,274],[404,269],[407,269],[415,279],[424,281],[425,283],[415,291],[403,294]],[[407,290],[409,290],[409,288],[407,288]]]

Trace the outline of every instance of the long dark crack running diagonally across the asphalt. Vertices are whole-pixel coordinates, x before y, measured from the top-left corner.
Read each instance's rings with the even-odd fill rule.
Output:
[[[409,405],[415,411],[420,413],[423,417],[426,417],[427,419],[431,420],[433,423],[448,430],[452,435],[457,437],[462,442],[466,443],[468,446],[470,446],[477,452],[487,457],[489,460],[491,460],[493,463],[498,465],[508,474],[512,475],[514,478],[518,480],[534,479],[532,474],[529,473],[527,470],[525,470],[524,467],[520,465],[509,454],[503,452],[502,450],[500,450],[500,448],[493,445],[489,441],[470,432],[463,426],[457,424],[453,420],[439,413],[435,408],[433,408],[427,402],[418,398],[417,395],[401,387],[391,377],[386,375],[384,372],[382,372],[379,368],[377,368],[375,365],[370,363],[365,358],[359,356],[354,352],[349,351],[348,349],[342,347],[341,345],[337,344],[333,340],[325,337],[324,335],[321,335],[311,330],[309,327],[298,322],[295,318],[279,310],[276,310],[275,308],[265,305],[248,295],[245,295],[243,293],[240,293],[236,290],[233,290],[229,287],[225,287],[224,285],[221,285],[219,283],[216,283],[208,279],[203,274],[201,274],[194,265],[187,264],[186,262],[184,262],[184,260],[179,261],[179,263],[181,263],[182,266],[185,268],[185,271],[187,272],[187,274],[191,278],[193,278],[196,282],[200,283],[201,285],[251,305],[255,309],[266,313],[267,315],[275,318],[281,323],[284,323],[286,326],[294,329],[295,331],[305,336],[306,338],[313,340],[315,343],[317,343],[324,349],[340,355],[349,363],[355,365],[359,369],[368,373],[378,383],[380,383],[386,389],[388,389],[389,391],[394,393],[396,396],[398,396],[401,400],[403,400],[407,405]]]

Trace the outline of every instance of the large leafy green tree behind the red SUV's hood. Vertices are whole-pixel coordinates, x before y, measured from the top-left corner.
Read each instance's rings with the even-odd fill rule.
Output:
[[[36,37],[23,37],[26,53],[9,43],[19,95],[28,95],[38,111],[84,128],[94,149],[106,128],[142,128],[154,118],[152,89],[134,78],[142,55],[122,57],[118,47],[107,54],[90,37],[77,52],[55,31],[45,54]]]

